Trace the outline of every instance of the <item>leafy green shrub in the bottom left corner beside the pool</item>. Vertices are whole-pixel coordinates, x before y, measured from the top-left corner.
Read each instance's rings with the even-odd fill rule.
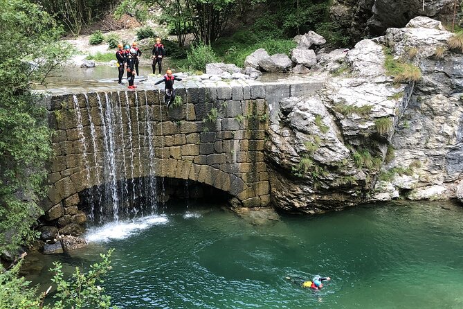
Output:
[[[8,272],[0,274],[0,308],[30,308],[30,309],[64,309],[64,308],[114,308],[111,306],[111,298],[105,293],[105,289],[100,287],[102,276],[111,270],[109,258],[114,249],[108,254],[100,254],[101,263],[91,265],[91,270],[87,273],[75,267],[72,278],[65,280],[62,272],[62,265],[58,262],[52,271],[53,283],[57,285],[57,292],[53,296],[56,299],[51,305],[44,305],[46,292],[37,295],[37,287],[31,288],[30,282],[25,281],[24,277],[18,276],[18,263]],[[48,291],[47,291],[48,292]]]

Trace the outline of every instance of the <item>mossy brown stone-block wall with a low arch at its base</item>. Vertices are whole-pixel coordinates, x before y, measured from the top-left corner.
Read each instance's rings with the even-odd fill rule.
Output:
[[[181,102],[170,109],[163,89],[155,87],[55,89],[46,96],[55,157],[42,202],[45,219],[60,227],[82,224],[82,193],[92,188],[100,201],[116,205],[117,219],[121,195],[139,193],[136,179],[145,179],[143,192],[158,201],[158,177],[208,184],[242,206],[268,206],[266,127],[278,117],[281,98],[320,86],[309,80],[185,80],[176,84]]]

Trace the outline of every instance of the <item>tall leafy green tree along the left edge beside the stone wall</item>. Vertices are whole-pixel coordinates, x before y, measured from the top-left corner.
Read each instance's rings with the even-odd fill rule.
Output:
[[[0,0],[0,250],[13,249],[35,233],[41,210],[44,164],[52,154],[46,110],[30,89],[66,60],[71,49],[57,39],[62,29],[26,0]]]

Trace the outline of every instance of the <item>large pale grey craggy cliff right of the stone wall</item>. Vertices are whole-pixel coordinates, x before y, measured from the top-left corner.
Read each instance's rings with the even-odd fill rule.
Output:
[[[319,55],[325,87],[283,100],[269,127],[273,204],[317,213],[399,196],[455,197],[463,170],[463,58],[441,55],[451,35],[438,21],[417,18],[347,53]],[[394,81],[386,53],[388,61],[419,67],[421,80]]]

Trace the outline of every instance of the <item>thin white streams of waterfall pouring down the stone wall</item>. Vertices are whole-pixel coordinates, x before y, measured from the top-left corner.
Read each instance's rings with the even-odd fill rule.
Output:
[[[94,177],[93,184],[95,180],[98,184],[84,197],[89,221],[103,224],[152,215],[158,204],[154,146],[158,137],[154,136],[153,107],[147,93],[144,103],[137,92],[133,96],[127,91],[97,92],[95,96],[96,103],[91,105],[84,95],[90,130],[85,130],[78,96],[73,96],[86,181],[90,184]]]

